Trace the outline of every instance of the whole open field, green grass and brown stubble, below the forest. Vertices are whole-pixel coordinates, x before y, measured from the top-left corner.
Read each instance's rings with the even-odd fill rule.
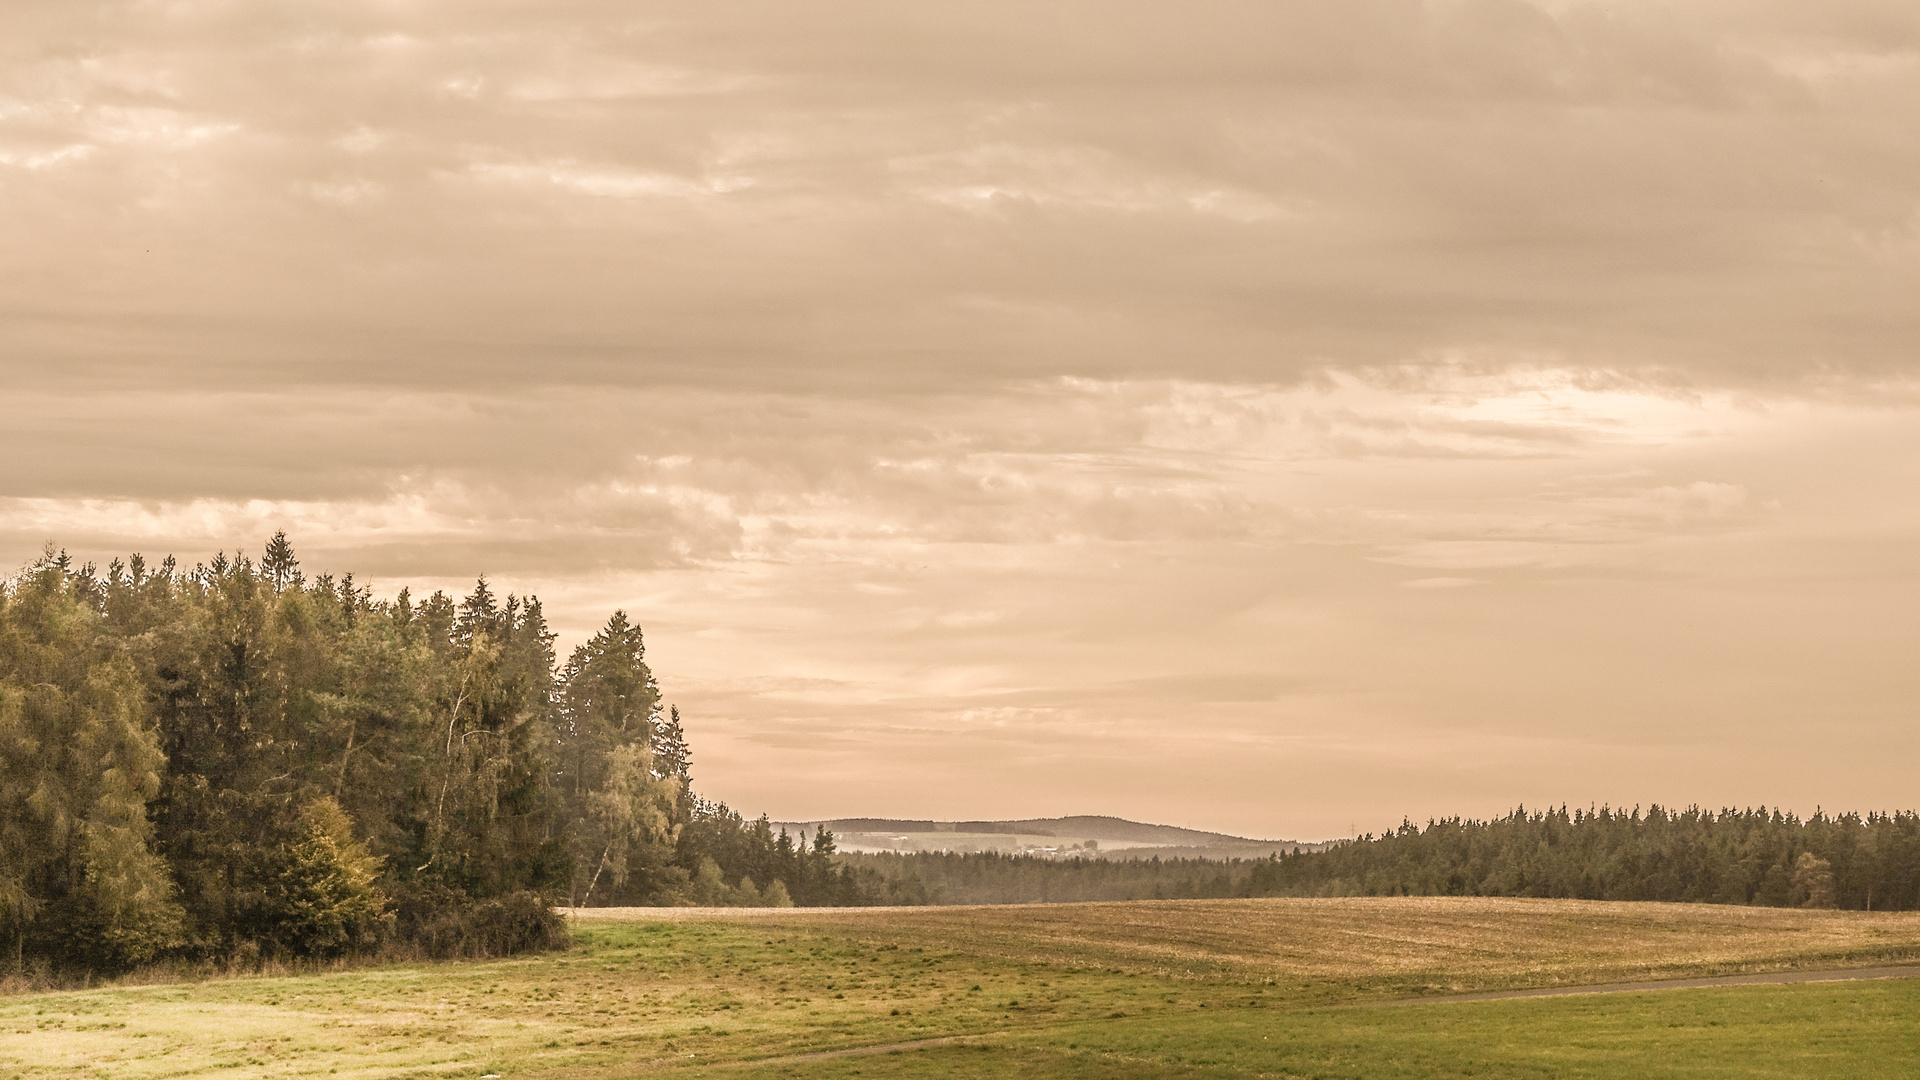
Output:
[[[605,911],[543,957],[0,997],[0,1076],[1912,1076],[1920,917],[1490,899]],[[925,1043],[924,1040],[947,1040]],[[897,1051],[797,1059],[862,1047]]]

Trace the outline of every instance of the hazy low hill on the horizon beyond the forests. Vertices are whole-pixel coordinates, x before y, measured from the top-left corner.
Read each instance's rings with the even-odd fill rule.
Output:
[[[1002,821],[925,821],[897,817],[841,817],[831,821],[776,822],[778,828],[812,836],[833,832],[843,851],[1006,851],[1073,857],[1185,857],[1261,859],[1275,851],[1315,849],[1296,840],[1254,840],[1200,828],[1148,824],[1106,815],[1025,817]]]

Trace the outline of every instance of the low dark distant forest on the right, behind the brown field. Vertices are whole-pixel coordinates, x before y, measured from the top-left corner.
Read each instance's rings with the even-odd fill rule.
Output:
[[[1651,807],[1402,824],[1254,861],[843,855],[933,903],[1254,896],[1534,896],[1920,909],[1920,815]]]

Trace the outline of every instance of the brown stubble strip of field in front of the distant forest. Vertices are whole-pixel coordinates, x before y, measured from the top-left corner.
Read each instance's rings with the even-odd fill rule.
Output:
[[[1920,913],[1584,899],[1165,899],[998,907],[609,907],[595,922],[831,928],[870,944],[1156,978],[1405,994],[1920,961]]]

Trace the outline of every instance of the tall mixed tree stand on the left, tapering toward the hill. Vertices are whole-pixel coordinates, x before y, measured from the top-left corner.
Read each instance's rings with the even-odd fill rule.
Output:
[[[691,792],[680,713],[614,613],[564,663],[538,598],[257,559],[0,586],[0,945],[15,970],[564,944],[551,907],[883,903]]]

